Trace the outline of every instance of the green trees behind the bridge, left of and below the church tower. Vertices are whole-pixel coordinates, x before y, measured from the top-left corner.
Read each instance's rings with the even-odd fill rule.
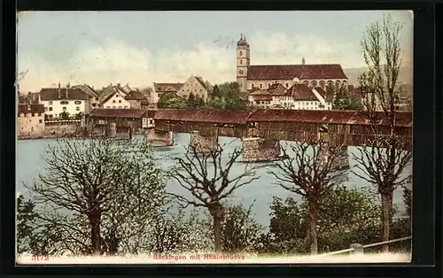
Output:
[[[214,86],[213,92],[205,100],[190,93],[180,97],[176,93],[164,93],[159,97],[157,106],[170,109],[246,109],[246,97],[240,92],[237,82],[226,82]]]

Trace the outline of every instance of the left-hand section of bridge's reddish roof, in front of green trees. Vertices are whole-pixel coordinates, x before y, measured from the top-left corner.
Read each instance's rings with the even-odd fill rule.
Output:
[[[175,120],[225,124],[245,124],[253,110],[188,110],[159,109],[154,120]]]

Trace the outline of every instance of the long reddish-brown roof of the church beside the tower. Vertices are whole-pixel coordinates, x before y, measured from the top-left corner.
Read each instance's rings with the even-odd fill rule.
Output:
[[[338,64],[249,66],[248,80],[347,79]]]

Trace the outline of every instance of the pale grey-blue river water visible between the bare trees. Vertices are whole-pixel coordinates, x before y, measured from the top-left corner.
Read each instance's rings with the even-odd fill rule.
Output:
[[[175,134],[175,145],[171,147],[154,148],[154,153],[159,158],[159,163],[165,169],[174,166],[174,158],[184,157],[184,148],[190,142],[189,134]],[[219,142],[224,145],[224,156],[229,155],[235,148],[241,148],[242,142],[240,139],[220,137]],[[285,143],[291,142],[281,142]],[[16,171],[16,191],[28,196],[27,189],[24,188],[24,182],[34,181],[38,174],[45,167],[43,161],[43,155],[48,145],[57,144],[55,139],[36,139],[36,140],[19,140],[17,143],[17,171]],[[351,159],[351,153],[357,151],[355,147],[349,147],[348,152],[350,154],[350,166],[354,166],[355,162]],[[268,165],[268,166],[267,166]],[[270,164],[260,164],[257,169],[257,175],[260,178],[253,181],[251,184],[247,184],[244,187],[237,189],[235,195],[230,198],[233,204],[243,204],[249,206],[254,203],[253,212],[254,218],[258,220],[262,225],[268,226],[270,205],[273,197],[294,197],[296,200],[300,200],[298,195],[288,192],[274,184],[275,178],[268,174]],[[245,164],[237,163],[233,167],[234,175],[244,171]],[[412,166],[408,168],[408,173],[412,173]],[[368,184],[367,181],[355,176],[351,172],[348,173],[348,181],[345,182],[347,187],[355,187],[359,189],[371,188],[375,190],[374,186]],[[183,196],[189,196],[189,192],[186,189],[181,188],[176,181],[167,181],[167,189],[175,194],[181,194]],[[255,202],[254,202],[255,201]],[[402,190],[397,189],[394,192],[393,202],[398,205],[400,212],[404,211],[404,205],[402,201]],[[200,208],[201,209],[201,208]]]

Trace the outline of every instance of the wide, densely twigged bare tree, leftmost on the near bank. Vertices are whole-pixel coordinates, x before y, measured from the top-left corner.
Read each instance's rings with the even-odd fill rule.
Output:
[[[58,249],[78,254],[136,252],[145,228],[166,202],[161,172],[147,143],[113,138],[60,139],[26,185]]]

